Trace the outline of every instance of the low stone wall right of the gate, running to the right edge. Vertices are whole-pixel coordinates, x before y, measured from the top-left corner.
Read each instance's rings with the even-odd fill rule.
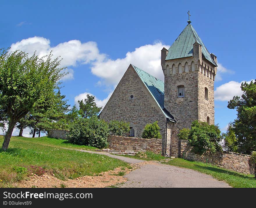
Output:
[[[215,154],[204,153],[202,155],[191,152],[192,147],[187,140],[179,142],[179,157],[190,161],[199,161],[217,165],[239,173],[254,174],[254,167],[250,164],[250,155],[235,152],[216,152]]]

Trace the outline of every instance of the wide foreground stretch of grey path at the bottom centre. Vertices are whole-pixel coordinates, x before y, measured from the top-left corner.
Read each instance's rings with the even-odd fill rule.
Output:
[[[131,171],[124,177],[128,178],[127,182],[119,185],[118,187],[231,187],[227,183],[218,181],[207,174],[202,174],[191,169],[164,165],[156,162],[143,165],[141,168]]]

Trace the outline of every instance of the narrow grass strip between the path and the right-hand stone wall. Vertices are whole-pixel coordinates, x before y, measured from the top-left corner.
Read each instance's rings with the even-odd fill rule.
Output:
[[[254,175],[251,174],[242,174],[236,171],[231,171],[227,169],[223,169],[211,164],[200,163],[200,162],[192,162],[188,160],[184,160],[182,158],[174,158],[166,162],[168,165],[175,165],[178,167],[185,167],[189,169],[193,169],[199,171],[201,173],[205,173],[213,176],[218,180],[224,180],[232,187],[236,188],[255,188],[256,187],[256,179]]]

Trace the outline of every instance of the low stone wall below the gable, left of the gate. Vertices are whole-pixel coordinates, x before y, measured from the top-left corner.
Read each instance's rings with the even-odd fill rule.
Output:
[[[143,139],[126,136],[114,136],[108,137],[109,149],[114,150],[134,150],[134,151],[152,151],[160,154],[162,151],[162,139]],[[162,153],[162,152],[161,152]]]

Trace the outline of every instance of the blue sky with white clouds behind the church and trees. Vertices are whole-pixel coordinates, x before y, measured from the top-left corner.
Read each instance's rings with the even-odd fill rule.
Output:
[[[129,63],[163,79],[160,50],[192,25],[218,59],[215,123],[236,118],[227,101],[256,79],[255,1],[2,1],[1,48],[53,50],[70,72],[61,89],[74,105],[87,93],[104,105]],[[1,132],[0,132],[1,133]],[[13,133],[16,135],[17,131]],[[24,136],[28,136],[27,131]]]

